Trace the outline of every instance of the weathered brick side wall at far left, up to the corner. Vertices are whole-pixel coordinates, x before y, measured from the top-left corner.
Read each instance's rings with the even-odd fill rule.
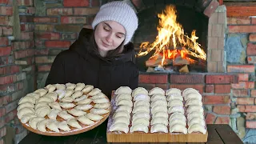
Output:
[[[34,12],[31,0],[0,1],[0,143],[4,143],[10,122],[16,131],[15,143],[27,133],[18,122],[16,108],[18,100],[30,89],[26,78],[32,79],[34,89],[34,30],[28,24]]]

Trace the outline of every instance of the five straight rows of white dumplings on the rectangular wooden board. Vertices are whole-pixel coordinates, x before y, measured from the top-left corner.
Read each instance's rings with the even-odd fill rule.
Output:
[[[188,88],[182,93],[181,90],[178,90],[176,88],[166,90],[165,92],[161,88],[155,87],[154,89],[150,90],[150,92],[148,92],[142,87],[138,87],[132,91],[127,86],[121,86],[118,88],[118,90],[115,91],[115,94],[117,94],[115,98],[115,103],[118,106],[118,109],[114,113],[114,123],[110,126],[110,131],[123,131],[127,133],[129,131],[129,122],[127,122],[127,120],[125,121],[125,119],[130,119],[130,112],[133,111],[133,118],[131,120],[132,126],[130,127],[130,132],[143,131],[145,133],[148,133],[148,126],[151,125],[150,133],[167,133],[167,126],[169,124],[170,133],[182,132],[186,134],[187,124],[186,117],[184,115],[185,112],[183,102],[186,103],[185,106],[187,106],[190,118],[197,118],[197,115],[193,114],[195,113],[195,111],[197,111],[197,109],[195,109],[195,106],[200,106],[200,110],[202,110],[203,112],[202,95],[199,94],[197,90],[194,90],[192,88]],[[184,99],[185,101],[183,101]],[[133,106],[132,100],[134,101],[134,110],[131,109],[131,107]],[[169,108],[168,110],[167,106]],[[152,114],[151,121],[149,114],[150,110]],[[170,114],[169,123],[168,114]],[[203,115],[202,121],[204,122]],[[124,125],[124,122],[126,123],[126,125]],[[189,119],[189,127],[190,123],[191,122]],[[189,130],[189,133],[192,132],[202,132],[203,134],[205,134],[206,130]]]

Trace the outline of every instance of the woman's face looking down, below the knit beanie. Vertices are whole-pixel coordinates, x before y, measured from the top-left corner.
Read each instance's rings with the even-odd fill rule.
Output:
[[[94,38],[100,53],[106,53],[121,45],[126,38],[126,30],[118,22],[104,21],[96,27]]]

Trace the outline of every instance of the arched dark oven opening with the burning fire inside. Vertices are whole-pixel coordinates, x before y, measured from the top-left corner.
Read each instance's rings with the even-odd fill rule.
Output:
[[[154,3],[138,12],[140,71],[206,72],[208,19],[193,6]]]

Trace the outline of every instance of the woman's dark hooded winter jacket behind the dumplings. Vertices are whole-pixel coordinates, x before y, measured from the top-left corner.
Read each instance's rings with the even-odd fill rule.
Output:
[[[134,46],[129,43],[123,54],[106,60],[90,46],[93,30],[83,28],[78,39],[54,59],[46,85],[83,82],[98,87],[110,98],[119,86],[138,87],[138,68],[132,62]]]

